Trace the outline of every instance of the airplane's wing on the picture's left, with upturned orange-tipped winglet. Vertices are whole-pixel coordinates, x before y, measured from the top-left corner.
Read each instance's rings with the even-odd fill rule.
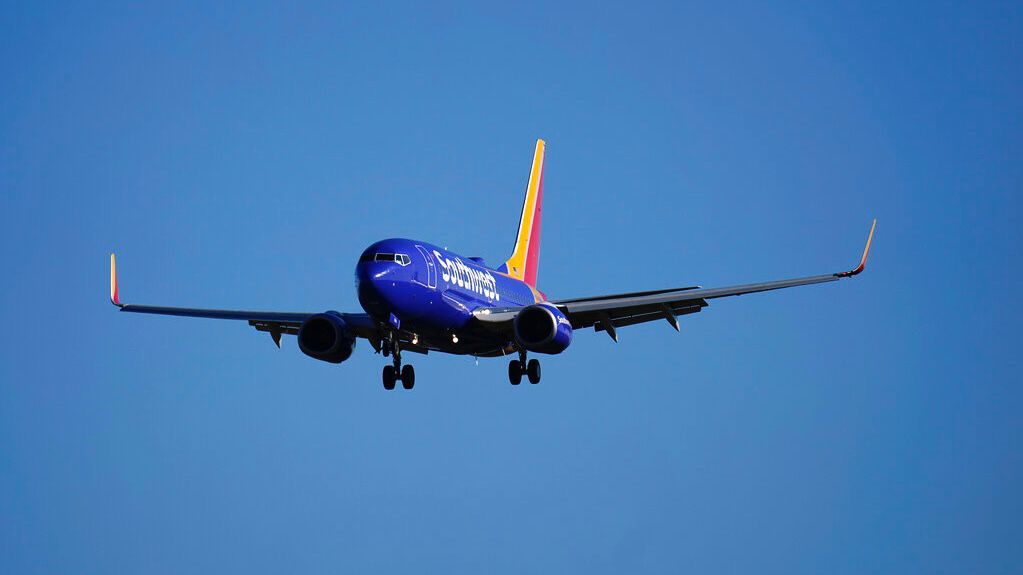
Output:
[[[180,308],[166,306],[143,306],[123,304],[118,294],[118,272],[114,254],[110,254],[110,303],[121,311],[178,315],[183,317],[207,317],[211,319],[235,319],[248,321],[257,331],[267,331],[273,343],[280,347],[280,336],[298,335],[302,322],[319,312],[244,311],[207,308]],[[343,313],[341,317],[351,328],[352,335],[370,341],[380,340],[380,326],[365,313]]]

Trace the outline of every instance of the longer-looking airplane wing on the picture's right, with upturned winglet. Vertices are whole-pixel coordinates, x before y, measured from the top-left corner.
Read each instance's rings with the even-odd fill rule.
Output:
[[[866,267],[866,256],[871,251],[871,241],[874,239],[874,228],[877,226],[877,223],[878,221],[874,220],[874,223],[871,225],[871,233],[866,238],[866,246],[863,248],[863,255],[859,260],[859,265],[849,271],[760,283],[746,283],[727,288],[677,288],[654,292],[557,300],[548,303],[558,307],[568,317],[573,329],[592,326],[596,331],[607,331],[616,342],[618,341],[616,328],[647,321],[666,320],[675,330],[678,330],[678,316],[699,312],[709,305],[707,300],[755,294],[757,292],[769,292],[771,290],[795,288],[797,285],[837,281],[858,274]],[[523,308],[477,310],[474,315],[484,325],[490,325],[499,329],[509,329],[511,321],[521,309]]]

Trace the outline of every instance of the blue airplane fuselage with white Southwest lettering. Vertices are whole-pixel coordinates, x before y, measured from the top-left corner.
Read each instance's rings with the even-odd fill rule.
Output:
[[[511,342],[474,322],[479,308],[543,301],[527,283],[427,241],[391,238],[362,253],[355,268],[362,308],[382,323],[449,353],[500,355]]]

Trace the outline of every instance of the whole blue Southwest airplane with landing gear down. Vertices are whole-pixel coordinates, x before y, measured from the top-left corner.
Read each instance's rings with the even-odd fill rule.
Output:
[[[406,352],[517,356],[508,362],[508,380],[519,385],[523,375],[531,384],[540,382],[540,362],[535,358],[527,361],[527,353],[562,353],[577,329],[605,331],[616,343],[619,328],[647,321],[667,321],[677,331],[678,316],[701,311],[709,305],[708,300],[837,281],[858,274],[866,265],[877,220],[871,225],[859,265],[850,271],[730,288],[693,285],[548,299],[536,284],[544,147],[543,140],[537,140],[515,249],[497,267],[426,241],[383,239],[366,248],[355,266],[364,313],[291,313],[123,304],[110,254],[110,302],[128,312],[248,321],[257,330],[269,333],[277,347],[282,335],[295,335],[303,353],[331,363],[351,357],[361,338],[376,353],[391,357],[392,364],[384,367],[383,374],[388,390],[393,390],[396,382],[405,389],[415,385],[415,370],[407,363],[402,365]]]

